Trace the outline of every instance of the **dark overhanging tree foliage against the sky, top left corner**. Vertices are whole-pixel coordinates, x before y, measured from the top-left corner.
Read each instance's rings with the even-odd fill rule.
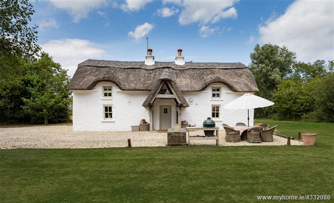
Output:
[[[1,0],[0,56],[33,58],[38,53],[37,26],[28,27],[33,13],[28,0]]]

